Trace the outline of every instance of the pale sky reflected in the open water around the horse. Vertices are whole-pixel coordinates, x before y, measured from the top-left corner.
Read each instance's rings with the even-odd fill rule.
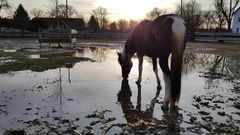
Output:
[[[122,77],[121,69],[117,62],[116,50],[89,48],[79,50],[74,56],[89,57],[97,62],[79,62],[71,69],[53,69],[40,73],[20,71],[13,74],[0,75],[0,92],[2,93],[0,95],[0,104],[7,104],[8,106],[8,115],[0,114],[0,125],[2,125],[0,131],[4,127],[24,126],[17,123],[17,119],[25,121],[44,117],[47,114],[50,116],[61,115],[70,119],[79,117],[80,122],[77,122],[77,124],[82,129],[85,125],[89,124],[89,119],[85,119],[87,114],[95,110],[104,109],[111,110],[112,113],[109,115],[116,117],[117,122],[126,122],[123,117],[122,108],[119,102],[117,102],[117,93],[121,89]],[[138,60],[133,58],[132,61],[134,66],[129,76],[129,86],[132,91],[132,104],[136,106],[138,88],[135,81],[138,76]],[[211,78],[199,77],[204,73],[230,75],[230,71],[224,64],[225,61],[226,58],[217,55],[186,54],[183,66],[182,94],[179,103],[181,109],[197,113],[198,110],[192,106],[194,95],[207,95],[212,92],[229,95],[228,89],[232,87],[232,83],[223,78],[211,81]],[[159,70],[159,75],[163,90],[158,99],[162,101],[164,96],[164,81],[161,70]],[[59,81],[60,77],[61,82]],[[71,83],[69,83],[69,79]],[[156,93],[156,86],[151,59],[145,58],[141,88],[141,110],[146,110],[151,104],[151,100]],[[63,104],[61,107],[59,99],[60,87],[63,91]],[[222,88],[221,91],[218,88]],[[33,110],[26,111],[26,108],[29,107],[33,108]],[[36,107],[41,109],[34,109]],[[52,110],[56,110],[57,112],[52,113]],[[236,110],[231,108],[224,111],[228,113]],[[34,114],[36,112],[38,115]],[[215,114],[216,112],[211,113]],[[162,115],[160,104],[156,104],[153,116],[162,119]],[[187,118],[185,114],[183,116]],[[216,121],[222,121],[222,118],[217,115],[212,116],[216,118]],[[183,126],[186,125],[183,124]]]

